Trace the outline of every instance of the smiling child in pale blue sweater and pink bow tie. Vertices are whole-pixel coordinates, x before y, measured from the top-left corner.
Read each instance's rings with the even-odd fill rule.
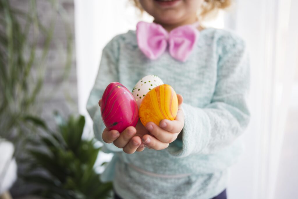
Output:
[[[229,0],[139,0],[153,23],[114,37],[103,49],[87,109],[103,151],[114,157],[102,174],[115,198],[226,198],[227,169],[240,154],[238,136],[249,121],[249,65],[235,34],[198,23],[201,14]],[[178,95],[174,121],[105,128],[100,98],[117,81],[132,90],[140,78],[158,75]]]

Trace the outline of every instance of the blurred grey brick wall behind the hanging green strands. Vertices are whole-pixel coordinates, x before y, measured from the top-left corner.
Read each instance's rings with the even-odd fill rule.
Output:
[[[55,1],[53,1],[55,2]],[[10,0],[11,5],[21,10],[27,10],[30,0]],[[41,90],[41,97],[38,104],[42,104],[42,117],[54,126],[53,112],[58,110],[62,115],[77,113],[77,78],[75,68],[75,32],[74,32],[74,2],[73,0],[57,0],[56,3],[61,6],[61,15],[53,11],[51,1],[36,1],[38,18],[41,23],[49,27],[51,20],[55,18],[55,28],[50,44],[48,59],[46,62],[46,72],[44,78],[44,87]],[[69,71],[69,77],[61,83],[61,75],[65,70],[66,63],[66,25],[70,27],[69,33],[72,34],[72,66]],[[24,23],[24,21],[22,21]],[[38,39],[37,53],[44,49],[45,37]]]

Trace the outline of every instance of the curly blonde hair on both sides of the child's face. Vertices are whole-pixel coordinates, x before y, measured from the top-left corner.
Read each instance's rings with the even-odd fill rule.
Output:
[[[139,0],[130,0],[141,13],[144,12]],[[225,9],[231,5],[232,0],[205,0],[200,12],[198,13],[199,20],[203,20],[208,16],[214,16],[220,9]]]

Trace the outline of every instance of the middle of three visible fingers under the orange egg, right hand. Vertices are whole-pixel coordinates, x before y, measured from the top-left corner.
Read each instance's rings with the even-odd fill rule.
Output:
[[[172,143],[174,140],[176,140],[178,136],[178,133],[168,132],[160,128],[153,122],[148,122],[146,125],[146,128],[149,130],[152,137],[157,138],[159,141],[163,143]]]

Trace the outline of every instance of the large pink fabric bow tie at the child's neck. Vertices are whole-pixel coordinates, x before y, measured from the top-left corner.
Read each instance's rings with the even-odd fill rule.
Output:
[[[167,49],[179,61],[185,61],[199,36],[194,25],[184,25],[168,33],[161,25],[140,21],[136,26],[139,49],[149,58],[157,59]]]

